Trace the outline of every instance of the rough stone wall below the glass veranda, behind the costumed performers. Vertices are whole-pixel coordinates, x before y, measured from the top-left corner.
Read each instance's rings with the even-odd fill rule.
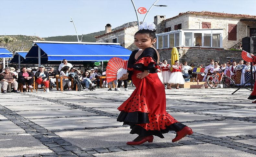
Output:
[[[180,62],[188,62],[190,65],[194,63],[195,66],[208,65],[210,60],[219,61],[220,63],[226,63],[233,58],[233,61],[239,62],[241,60],[241,51],[230,51],[222,48],[203,48],[203,47],[177,47],[180,56]],[[171,59],[171,50],[159,49],[160,58]],[[227,58],[231,57],[231,58]],[[162,62],[162,59],[160,59]],[[170,63],[171,61],[168,60]]]

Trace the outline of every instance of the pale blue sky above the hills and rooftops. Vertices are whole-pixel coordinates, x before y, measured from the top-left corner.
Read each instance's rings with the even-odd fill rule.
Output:
[[[136,8],[147,10],[156,0],[134,0]],[[154,16],[166,18],[187,11],[211,11],[256,16],[256,0],[159,0],[148,12],[146,22]],[[41,38],[88,34],[137,21],[131,0],[0,0],[0,35],[28,35]],[[145,14],[139,14],[143,21]]]

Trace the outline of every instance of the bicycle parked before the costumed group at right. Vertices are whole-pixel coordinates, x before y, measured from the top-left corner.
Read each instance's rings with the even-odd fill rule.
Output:
[[[228,88],[234,88],[235,83],[234,81],[224,74],[224,72],[215,72],[214,75],[207,76],[206,82],[209,87],[213,89],[217,89],[220,84],[225,84]]]

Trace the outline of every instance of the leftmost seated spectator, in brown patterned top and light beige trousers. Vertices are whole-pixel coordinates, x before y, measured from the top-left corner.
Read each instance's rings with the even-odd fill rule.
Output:
[[[6,91],[9,83],[12,85],[12,88],[14,88],[14,92],[19,93],[17,90],[18,83],[16,81],[16,76],[10,72],[10,67],[6,67],[5,72],[0,74],[0,83],[2,85],[3,93],[7,93]]]

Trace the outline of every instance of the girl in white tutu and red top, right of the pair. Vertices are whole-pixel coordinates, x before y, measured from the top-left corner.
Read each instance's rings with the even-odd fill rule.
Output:
[[[177,60],[175,61],[175,65],[172,65],[172,71],[169,79],[169,89],[171,89],[172,84],[177,84],[176,89],[179,89],[180,84],[184,84],[185,81],[183,79],[181,71],[183,70],[183,65],[180,64]]]

